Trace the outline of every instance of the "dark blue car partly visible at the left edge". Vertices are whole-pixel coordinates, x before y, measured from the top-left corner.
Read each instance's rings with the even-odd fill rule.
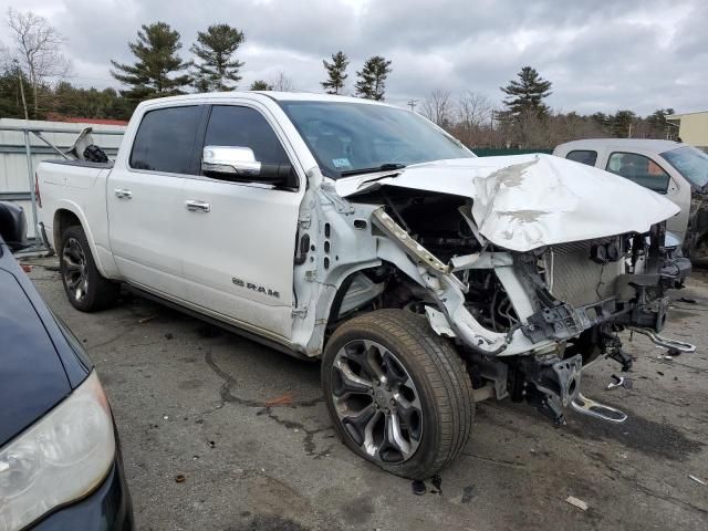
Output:
[[[108,402],[11,254],[24,229],[24,212],[0,202],[0,529],[131,530]]]

